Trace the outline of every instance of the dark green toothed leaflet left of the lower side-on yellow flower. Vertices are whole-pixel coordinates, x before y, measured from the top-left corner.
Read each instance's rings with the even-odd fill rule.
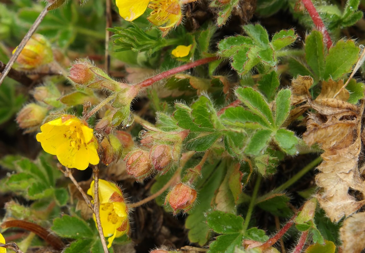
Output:
[[[95,224],[87,224],[76,216],[63,215],[61,218],[53,220],[51,230],[66,238],[92,238],[94,233],[90,226],[95,226]]]

